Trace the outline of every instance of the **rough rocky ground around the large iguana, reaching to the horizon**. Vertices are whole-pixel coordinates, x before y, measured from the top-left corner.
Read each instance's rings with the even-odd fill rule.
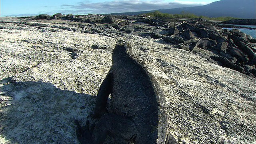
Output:
[[[201,19],[60,17],[1,18],[1,144],[78,144],[74,119],[85,125],[118,40],[164,90],[180,144],[256,142],[250,36]]]

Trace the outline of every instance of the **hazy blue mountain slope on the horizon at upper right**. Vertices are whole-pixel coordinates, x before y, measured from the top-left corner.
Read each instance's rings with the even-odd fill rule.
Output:
[[[169,14],[181,14],[181,12],[190,12],[197,16],[220,17],[231,16],[235,18],[256,18],[255,0],[220,0],[204,6],[194,6],[186,8],[160,9],[158,11]],[[112,13],[112,15],[138,15],[154,10],[144,12],[123,12]]]

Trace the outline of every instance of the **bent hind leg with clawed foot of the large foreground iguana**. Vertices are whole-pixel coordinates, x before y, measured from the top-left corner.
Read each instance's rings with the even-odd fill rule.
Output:
[[[76,135],[81,144],[102,144],[107,135],[123,138],[124,140],[135,142],[137,130],[135,123],[124,116],[113,113],[104,114],[96,125],[89,129],[89,121],[86,121],[83,129],[76,120]]]

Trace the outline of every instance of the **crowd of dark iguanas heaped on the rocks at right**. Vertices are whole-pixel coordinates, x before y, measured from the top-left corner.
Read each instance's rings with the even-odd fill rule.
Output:
[[[190,52],[194,52],[196,48],[210,50],[218,55],[210,58],[220,62],[220,65],[256,76],[256,48],[252,44],[256,40],[250,35],[238,29],[229,31],[214,25],[199,24],[197,20],[184,21],[181,24],[171,22],[168,26],[169,34],[166,37],[159,36],[166,42],[185,44]]]

